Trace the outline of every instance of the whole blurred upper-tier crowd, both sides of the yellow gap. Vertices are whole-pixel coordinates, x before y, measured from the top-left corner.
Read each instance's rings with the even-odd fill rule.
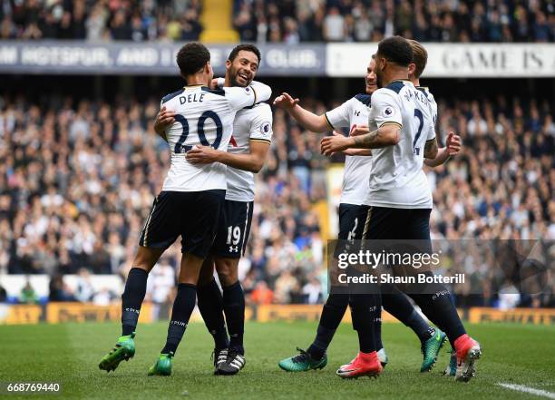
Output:
[[[0,38],[197,40],[199,0],[9,0]],[[242,41],[367,42],[401,34],[423,42],[552,42],[549,0],[235,0]]]

